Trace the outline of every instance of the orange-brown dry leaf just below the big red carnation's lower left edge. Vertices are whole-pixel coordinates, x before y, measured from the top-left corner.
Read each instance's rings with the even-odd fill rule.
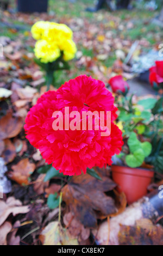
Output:
[[[30,163],[28,159],[22,159],[16,165],[12,166],[13,172],[9,173],[11,180],[15,180],[18,184],[28,185],[30,174],[35,170],[36,166],[34,163]]]

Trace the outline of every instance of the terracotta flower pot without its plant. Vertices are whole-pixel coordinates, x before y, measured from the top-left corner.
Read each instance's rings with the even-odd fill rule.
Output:
[[[116,182],[118,192],[124,192],[128,204],[147,194],[147,187],[154,176],[152,170],[130,168],[127,166],[111,166],[112,179]]]

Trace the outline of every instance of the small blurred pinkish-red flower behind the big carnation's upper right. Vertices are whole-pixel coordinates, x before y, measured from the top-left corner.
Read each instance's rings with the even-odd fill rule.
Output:
[[[109,80],[109,84],[111,86],[113,93],[121,92],[123,94],[127,94],[129,90],[129,85],[126,81],[124,81],[121,75],[111,77]]]

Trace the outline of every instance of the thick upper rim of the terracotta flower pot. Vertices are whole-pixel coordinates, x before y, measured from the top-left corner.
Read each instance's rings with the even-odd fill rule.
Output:
[[[126,174],[131,176],[141,176],[146,178],[153,178],[154,176],[154,170],[145,169],[145,168],[131,168],[128,166],[118,166],[116,164],[112,164],[111,170],[112,172],[115,172],[115,173],[121,173],[121,174]]]

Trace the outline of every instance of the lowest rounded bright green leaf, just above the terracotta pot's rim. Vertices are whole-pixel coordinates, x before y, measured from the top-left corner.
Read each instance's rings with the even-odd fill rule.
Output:
[[[142,149],[137,149],[134,154],[130,154],[126,156],[126,163],[131,168],[137,168],[141,166],[145,159],[145,155],[143,154]]]

